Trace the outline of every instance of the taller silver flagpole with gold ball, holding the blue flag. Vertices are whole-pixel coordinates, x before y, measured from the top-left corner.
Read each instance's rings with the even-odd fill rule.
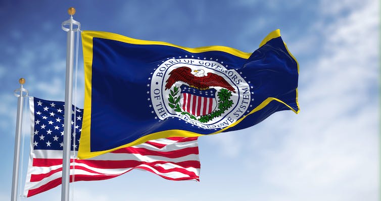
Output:
[[[62,159],[63,159],[62,161],[62,190],[61,190],[62,201],[69,201],[74,32],[79,31],[79,28],[80,28],[80,23],[73,20],[75,9],[69,8],[68,13],[70,15],[70,19],[62,23],[62,29],[67,32],[64,147],[63,147],[64,152],[62,156]],[[77,25],[77,28],[73,29],[73,25]],[[68,28],[66,28],[65,26],[68,26]]]

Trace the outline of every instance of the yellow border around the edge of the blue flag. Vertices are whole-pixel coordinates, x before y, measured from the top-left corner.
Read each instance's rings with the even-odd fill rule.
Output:
[[[134,39],[134,38],[129,38],[123,35],[115,34],[115,33],[109,33],[109,32],[102,32],[102,31],[83,31],[81,33],[82,37],[82,46],[83,46],[83,63],[84,63],[84,77],[85,77],[85,95],[84,95],[84,112],[83,112],[83,120],[82,120],[82,132],[81,132],[81,137],[80,137],[80,146],[78,149],[78,159],[88,159],[92,157],[96,157],[105,153],[112,152],[113,150],[117,150],[120,148],[124,147],[129,147],[133,145],[137,145],[140,143],[144,143],[148,140],[153,140],[153,139],[158,139],[158,138],[165,138],[165,137],[197,137],[197,136],[202,136],[204,134],[199,134],[191,131],[186,131],[186,130],[178,130],[178,129],[173,129],[173,130],[165,130],[165,131],[160,131],[156,133],[151,133],[148,135],[145,135],[143,137],[140,137],[128,144],[124,144],[112,149],[108,150],[103,150],[103,151],[98,151],[98,152],[91,152],[90,151],[90,125],[91,125],[91,70],[92,70],[92,39],[94,37],[96,38],[104,38],[104,39],[110,39],[110,40],[117,40],[121,42],[126,42],[130,44],[158,44],[158,45],[167,45],[167,46],[173,46],[177,48],[184,49],[187,52],[190,53],[202,53],[202,52],[208,52],[208,51],[220,51],[220,52],[226,52],[231,55],[241,57],[244,59],[248,59],[251,56],[251,53],[244,53],[242,51],[239,51],[238,49],[234,49],[231,47],[226,47],[226,46],[205,46],[205,47],[197,47],[197,48],[190,48],[190,47],[182,47],[178,45],[174,45],[168,42],[162,42],[162,41],[149,41],[149,40],[139,40],[139,39]],[[263,46],[266,44],[269,40],[273,38],[280,37],[280,30],[277,29],[275,31],[272,31],[269,33],[260,43],[259,47]],[[295,57],[290,53],[289,49],[287,48],[287,45],[284,43],[285,48],[287,49],[288,53],[290,56],[296,61],[297,67],[298,67],[298,74],[299,74],[299,63],[295,59]],[[238,123],[240,123],[242,120],[244,120],[248,115],[251,115],[264,107],[266,107],[271,101],[277,101],[279,103],[284,104],[285,106],[289,107],[293,112],[298,114],[300,112],[299,109],[299,103],[298,103],[298,89],[296,89],[296,103],[298,106],[298,110],[294,110],[292,107],[289,105],[285,104],[282,102],[282,100],[279,100],[274,97],[268,97],[266,98],[259,106],[254,108],[249,114],[243,116],[241,119],[237,120],[233,124],[225,127],[224,129],[221,129],[219,131],[216,131],[211,134],[217,134],[222,131],[225,131],[228,128],[231,128]],[[210,134],[209,134],[210,135]]]

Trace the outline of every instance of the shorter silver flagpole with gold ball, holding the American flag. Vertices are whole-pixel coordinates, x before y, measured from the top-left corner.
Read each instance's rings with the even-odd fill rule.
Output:
[[[20,170],[20,144],[21,144],[21,128],[23,117],[24,97],[28,95],[28,90],[23,88],[25,83],[24,78],[19,79],[21,87],[15,90],[15,96],[18,97],[17,103],[17,120],[16,120],[16,137],[15,137],[15,152],[13,157],[13,177],[12,177],[12,196],[11,200],[17,200],[19,186],[19,170]]]

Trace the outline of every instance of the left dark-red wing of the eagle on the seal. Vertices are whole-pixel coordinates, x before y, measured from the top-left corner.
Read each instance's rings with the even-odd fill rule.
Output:
[[[167,83],[165,84],[165,89],[171,88],[177,81],[183,81],[187,84],[193,85],[195,76],[190,72],[192,72],[192,70],[188,67],[180,67],[172,70],[166,81]]]

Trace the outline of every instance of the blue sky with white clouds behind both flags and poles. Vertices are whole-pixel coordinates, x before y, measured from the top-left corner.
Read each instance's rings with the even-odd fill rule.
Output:
[[[76,182],[74,200],[379,200],[380,5],[374,0],[0,1],[0,200],[11,196],[18,79],[26,79],[30,96],[65,99],[61,23],[69,7],[82,30],[186,47],[251,53],[280,29],[300,66],[301,112],[200,137],[200,182],[132,170]],[[82,107],[79,51],[76,103]],[[30,143],[25,119],[23,176]],[[21,200],[61,200],[61,187]]]

